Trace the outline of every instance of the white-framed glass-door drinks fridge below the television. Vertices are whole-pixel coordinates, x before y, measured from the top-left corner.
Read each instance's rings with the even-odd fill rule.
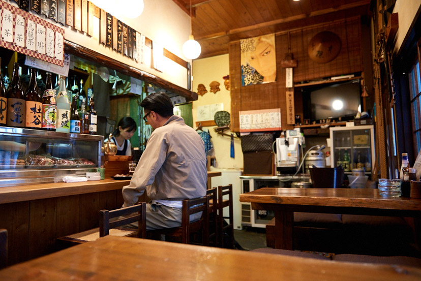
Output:
[[[374,158],[374,126],[330,128],[331,166],[342,165],[345,174],[354,169],[364,169],[371,175]]]

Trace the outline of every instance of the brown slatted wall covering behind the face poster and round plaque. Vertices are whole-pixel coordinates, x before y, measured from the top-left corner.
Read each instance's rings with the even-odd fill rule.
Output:
[[[360,19],[354,17],[291,32],[291,52],[294,59],[298,61],[298,66],[293,70],[294,83],[362,72],[360,29]],[[307,46],[314,35],[324,30],[336,33],[342,41],[342,48],[334,60],[326,64],[317,64],[309,58]],[[287,124],[286,117],[285,69],[280,66],[280,61],[288,52],[287,34],[276,35],[276,52],[277,82],[243,87],[241,85],[239,42],[230,43],[231,131],[239,131],[239,111],[269,108],[281,108],[282,129],[292,129],[293,126]]]

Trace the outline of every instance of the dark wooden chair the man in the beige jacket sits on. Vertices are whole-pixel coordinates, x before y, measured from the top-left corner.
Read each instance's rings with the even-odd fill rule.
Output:
[[[197,199],[183,200],[182,208],[182,225],[173,228],[161,228],[148,230],[149,237],[156,237],[157,235],[165,235],[166,238],[172,237],[181,240],[182,243],[190,243],[190,234],[194,232],[201,232],[202,244],[209,245],[209,197],[204,196]],[[202,212],[199,220],[190,222],[190,215]]]

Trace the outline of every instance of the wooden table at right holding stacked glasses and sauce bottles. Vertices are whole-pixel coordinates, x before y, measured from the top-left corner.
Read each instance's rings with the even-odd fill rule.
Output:
[[[403,216],[415,218],[421,240],[421,199],[385,198],[377,189],[262,188],[240,194],[240,202],[252,209],[275,212],[275,247],[292,249],[294,212]]]

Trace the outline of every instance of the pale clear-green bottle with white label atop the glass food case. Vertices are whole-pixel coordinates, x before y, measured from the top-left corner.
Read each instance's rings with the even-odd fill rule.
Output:
[[[56,132],[70,132],[70,100],[66,90],[66,77],[60,77],[60,87],[56,96],[57,102],[57,122]]]

